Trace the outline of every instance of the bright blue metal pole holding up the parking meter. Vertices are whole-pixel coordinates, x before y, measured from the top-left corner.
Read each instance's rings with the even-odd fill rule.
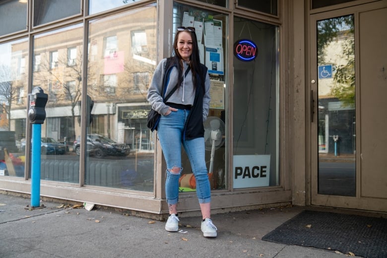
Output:
[[[40,206],[40,145],[41,124],[32,125],[31,142],[31,207]]]

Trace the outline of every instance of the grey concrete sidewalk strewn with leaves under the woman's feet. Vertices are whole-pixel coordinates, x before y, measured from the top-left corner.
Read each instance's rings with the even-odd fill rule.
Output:
[[[303,207],[215,214],[212,220],[218,237],[204,238],[200,217],[180,218],[184,233],[171,233],[165,231],[165,222],[113,209],[88,211],[72,204],[42,202],[44,208],[28,210],[30,201],[0,194],[0,258],[345,257],[333,251],[261,241]]]

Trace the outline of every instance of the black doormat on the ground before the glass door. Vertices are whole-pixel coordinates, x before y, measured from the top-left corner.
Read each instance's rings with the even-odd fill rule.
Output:
[[[304,210],[262,240],[387,258],[387,219]]]

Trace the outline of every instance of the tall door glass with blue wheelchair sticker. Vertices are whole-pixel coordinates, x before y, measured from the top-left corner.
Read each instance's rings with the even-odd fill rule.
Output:
[[[356,196],[354,14],[312,19],[312,199]],[[311,29],[312,29],[311,28]]]

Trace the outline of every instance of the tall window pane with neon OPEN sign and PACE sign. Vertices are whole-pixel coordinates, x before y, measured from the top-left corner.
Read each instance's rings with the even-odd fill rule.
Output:
[[[235,189],[279,185],[278,69],[278,26],[235,17]]]

